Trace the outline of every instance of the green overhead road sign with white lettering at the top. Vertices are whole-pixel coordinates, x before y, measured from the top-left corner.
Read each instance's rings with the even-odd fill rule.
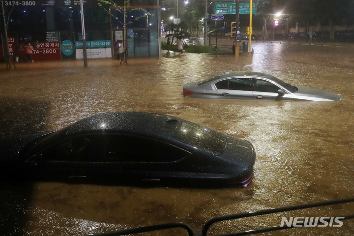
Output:
[[[249,14],[251,11],[251,3],[240,2],[239,14]],[[215,2],[215,14],[236,14],[235,2]],[[252,4],[252,15],[257,13],[257,3]]]

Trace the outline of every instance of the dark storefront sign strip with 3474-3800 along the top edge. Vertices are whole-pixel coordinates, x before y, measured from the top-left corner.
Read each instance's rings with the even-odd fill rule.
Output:
[[[85,6],[97,7],[97,0],[83,0]],[[3,0],[5,6],[80,6],[80,0]]]

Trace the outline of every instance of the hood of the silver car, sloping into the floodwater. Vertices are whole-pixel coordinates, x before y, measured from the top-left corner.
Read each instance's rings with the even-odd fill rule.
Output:
[[[302,86],[298,86],[297,89],[298,90],[294,93],[294,95],[309,97],[309,99],[305,99],[305,100],[312,100],[312,101],[343,100],[343,98],[340,95],[322,89],[313,89],[313,88],[307,88]]]

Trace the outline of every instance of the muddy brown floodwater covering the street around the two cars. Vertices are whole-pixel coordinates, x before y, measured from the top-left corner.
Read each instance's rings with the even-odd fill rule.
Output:
[[[152,224],[184,222],[201,230],[210,218],[354,196],[354,47],[253,43],[232,56],[163,54],[157,59],[0,65],[1,138],[58,130],[102,112],[153,112],[185,118],[255,146],[247,188],[184,189],[53,182],[1,182],[0,235],[82,236]],[[223,71],[258,71],[293,84],[341,94],[336,102],[267,102],[185,98],[182,85]],[[354,204],[225,221],[209,235],[279,225],[286,216],[337,216]],[[290,229],[268,235],[354,234],[338,227]],[[157,235],[186,235],[161,231]],[[267,235],[267,234],[266,234]]]

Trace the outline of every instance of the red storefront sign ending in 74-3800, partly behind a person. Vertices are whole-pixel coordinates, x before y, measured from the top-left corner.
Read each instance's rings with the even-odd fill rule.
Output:
[[[60,60],[60,43],[59,42],[38,42],[33,46],[33,60]],[[21,47],[21,57],[26,57],[26,48]]]

